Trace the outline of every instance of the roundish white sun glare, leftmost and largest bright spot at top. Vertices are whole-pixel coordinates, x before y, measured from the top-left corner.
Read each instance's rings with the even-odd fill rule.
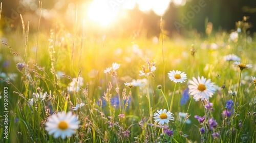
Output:
[[[95,0],[89,7],[88,17],[102,26],[108,26],[116,17],[117,11],[106,1]]]

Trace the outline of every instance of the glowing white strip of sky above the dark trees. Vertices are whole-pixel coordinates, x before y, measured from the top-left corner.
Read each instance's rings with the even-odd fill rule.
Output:
[[[186,0],[94,0],[88,10],[88,17],[108,26],[121,10],[133,9],[136,4],[142,12],[154,11],[157,15],[163,15],[173,2],[176,6],[183,6]]]

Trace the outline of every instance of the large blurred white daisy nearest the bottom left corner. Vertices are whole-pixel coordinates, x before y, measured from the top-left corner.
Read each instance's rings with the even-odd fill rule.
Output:
[[[65,111],[58,112],[48,118],[46,122],[46,130],[54,138],[60,137],[65,139],[75,134],[75,130],[79,128],[79,121],[75,115],[72,115],[71,111],[67,114]]]

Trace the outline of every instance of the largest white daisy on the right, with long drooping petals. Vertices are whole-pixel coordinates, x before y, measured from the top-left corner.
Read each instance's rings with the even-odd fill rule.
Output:
[[[193,77],[193,81],[190,80],[189,83],[190,85],[188,85],[188,92],[196,101],[200,99],[209,99],[216,91],[216,88],[214,88],[214,83],[210,82],[210,79],[206,80],[204,77],[198,77],[198,79]]]

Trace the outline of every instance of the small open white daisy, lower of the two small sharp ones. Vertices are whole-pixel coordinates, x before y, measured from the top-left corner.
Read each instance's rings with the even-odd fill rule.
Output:
[[[157,110],[157,112],[154,113],[155,122],[159,122],[158,124],[163,125],[164,123],[168,123],[169,120],[174,121],[173,113],[170,111],[168,112],[166,111],[167,111],[166,109],[164,110],[160,109],[160,111]]]

